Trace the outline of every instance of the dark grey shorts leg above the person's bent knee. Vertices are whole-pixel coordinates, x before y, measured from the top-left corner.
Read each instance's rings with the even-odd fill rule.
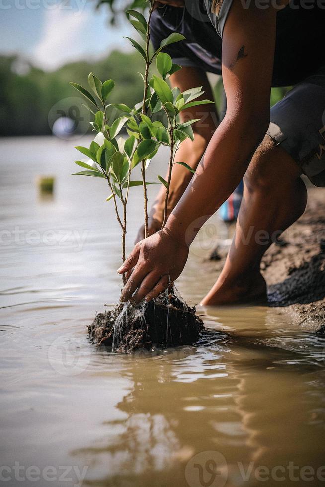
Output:
[[[267,134],[325,187],[325,67],[298,83],[271,108]]]

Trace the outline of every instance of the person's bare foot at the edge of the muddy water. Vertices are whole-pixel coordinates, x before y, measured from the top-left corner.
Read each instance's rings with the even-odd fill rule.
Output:
[[[211,291],[203,298],[201,305],[218,306],[234,303],[267,302],[267,287],[262,274],[258,272],[248,278],[237,279],[236,282],[219,280]]]

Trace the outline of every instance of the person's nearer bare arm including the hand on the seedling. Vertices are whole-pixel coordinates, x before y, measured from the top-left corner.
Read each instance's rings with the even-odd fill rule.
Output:
[[[198,229],[228,198],[263,139],[270,117],[276,11],[234,1],[223,37],[227,112],[163,230],[138,243],[119,269],[133,273],[122,300],[155,298],[182,272]],[[199,223],[197,223],[199,220]],[[193,222],[195,222],[193,225]]]

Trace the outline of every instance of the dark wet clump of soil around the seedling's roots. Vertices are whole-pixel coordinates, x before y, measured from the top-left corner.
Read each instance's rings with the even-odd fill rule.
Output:
[[[174,293],[165,293],[149,303],[119,303],[112,311],[99,313],[88,331],[93,343],[117,352],[192,345],[204,329],[195,312]]]

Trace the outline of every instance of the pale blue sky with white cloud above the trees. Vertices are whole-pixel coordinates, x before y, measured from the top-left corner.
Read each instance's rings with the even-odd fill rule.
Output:
[[[44,70],[113,49],[130,50],[132,27],[108,22],[108,8],[94,0],[0,0],[0,52],[18,53]]]

